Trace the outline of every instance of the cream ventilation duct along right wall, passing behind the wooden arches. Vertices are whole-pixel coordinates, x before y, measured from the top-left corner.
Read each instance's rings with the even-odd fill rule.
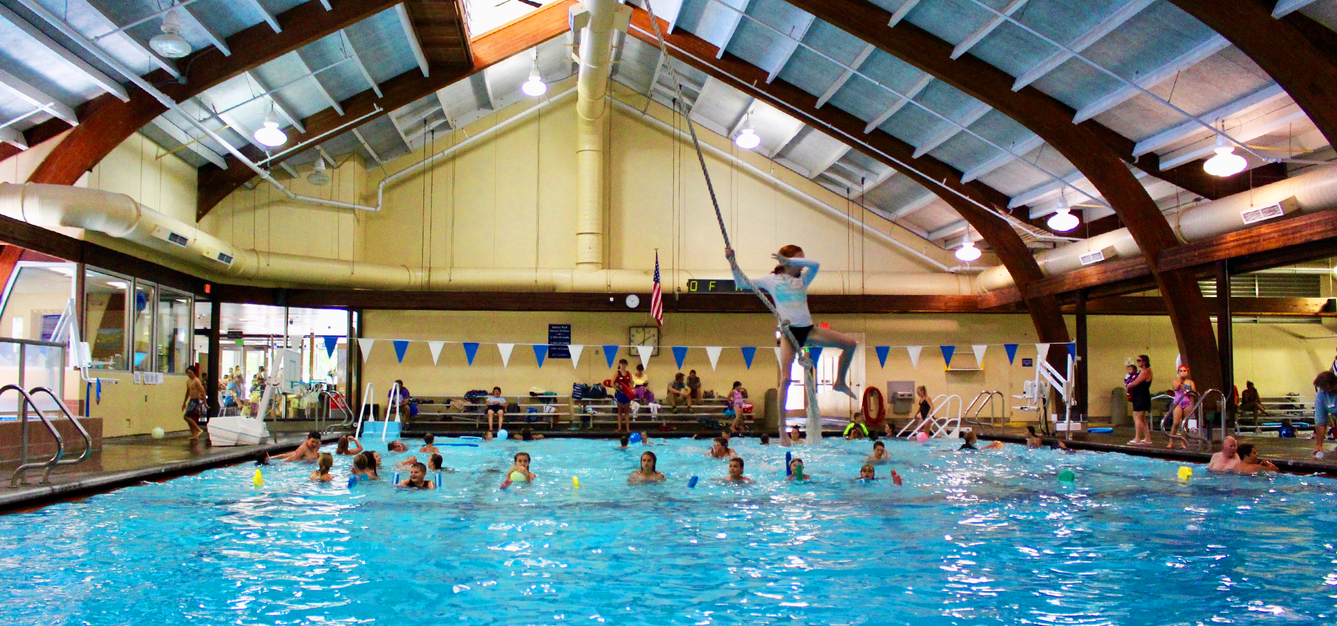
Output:
[[[1292,211],[1313,212],[1337,207],[1337,168],[1325,167],[1293,179],[1258,187],[1219,200],[1206,202],[1170,215],[1170,227],[1183,242],[1223,235],[1247,228],[1254,222],[1273,219]],[[1096,255],[1099,252],[1099,255]],[[1056,276],[1102,263],[1114,256],[1132,258],[1142,251],[1127,228],[1119,228],[1090,239],[1035,255],[1046,276]],[[1083,256],[1087,263],[1083,263]],[[1095,260],[1099,256],[1100,260]],[[1013,284],[1012,275],[1003,266],[991,267],[979,276],[981,292]]]

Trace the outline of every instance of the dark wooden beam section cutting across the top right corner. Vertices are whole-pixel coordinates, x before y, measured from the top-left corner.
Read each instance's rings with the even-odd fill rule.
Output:
[[[1270,0],[1170,0],[1267,72],[1337,145],[1337,35],[1304,13],[1273,19]]]

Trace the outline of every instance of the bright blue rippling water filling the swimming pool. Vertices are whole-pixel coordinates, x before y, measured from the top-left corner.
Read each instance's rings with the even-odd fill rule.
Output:
[[[0,517],[0,618],[21,625],[1337,622],[1337,482],[1175,478],[1119,454],[890,442],[904,486],[858,485],[868,442],[445,447],[443,490],[310,483],[242,464]],[[532,485],[499,491],[517,450]],[[388,462],[408,455],[389,455]],[[418,455],[420,458],[422,455]],[[1076,473],[1075,485],[1056,481]],[[571,477],[580,478],[579,490]],[[691,475],[702,478],[687,489]],[[388,473],[386,473],[386,478]]]

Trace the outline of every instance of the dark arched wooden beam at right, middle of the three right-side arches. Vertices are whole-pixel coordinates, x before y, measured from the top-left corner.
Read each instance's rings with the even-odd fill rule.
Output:
[[[1128,141],[1126,137],[1095,121],[1074,124],[1070,107],[1034,87],[1013,92],[1012,76],[975,56],[964,55],[953,60],[952,44],[909,21],[901,20],[889,27],[892,13],[873,3],[787,1],[993,107],[1058,149],[1099,190],[1142,250],[1170,312],[1179,352],[1193,366],[1194,378],[1207,387],[1221,384],[1217,340],[1197,279],[1187,271],[1157,270],[1157,254],[1179,242],[1155,202],[1120,155],[1111,149],[1111,143]]]

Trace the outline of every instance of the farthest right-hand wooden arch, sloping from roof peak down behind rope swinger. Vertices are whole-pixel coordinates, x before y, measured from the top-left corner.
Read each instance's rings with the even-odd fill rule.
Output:
[[[662,19],[659,20],[659,29],[664,33],[668,32],[668,24]],[[659,45],[658,39],[654,36],[650,15],[644,9],[634,9],[631,27],[627,29],[627,33],[650,45]],[[869,156],[937,194],[961,214],[969,222],[971,227],[993,248],[999,260],[1007,266],[1017,286],[1029,286],[1043,278],[1040,267],[1035,263],[1035,256],[1032,256],[1016,231],[1012,230],[1012,226],[973,203],[977,202],[989,207],[1007,207],[1008,198],[1001,192],[983,183],[961,183],[961,172],[929,156],[915,158],[915,147],[885,131],[874,129],[873,132],[864,133],[864,127],[866,125],[864,120],[830,104],[818,108],[817,96],[783,80],[775,79],[767,83],[767,71],[730,53],[721,56],[718,47],[695,35],[679,29],[664,35],[664,43],[674,59],[682,60],[738,91],[765,100],[844,143],[860,147]],[[910,164],[913,168],[905,164]],[[969,200],[944,190],[943,186],[969,198]],[[1025,290],[1023,288],[1021,292],[1024,294]],[[1042,342],[1068,342],[1067,324],[1054,296],[1027,300],[1027,310],[1031,314],[1031,320],[1035,323],[1036,334]],[[1063,354],[1066,356],[1066,352]]]

